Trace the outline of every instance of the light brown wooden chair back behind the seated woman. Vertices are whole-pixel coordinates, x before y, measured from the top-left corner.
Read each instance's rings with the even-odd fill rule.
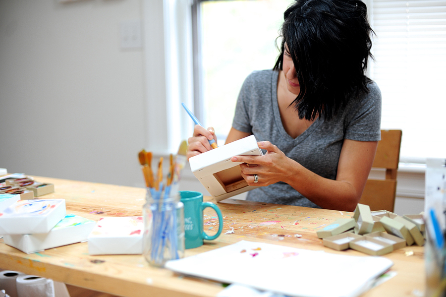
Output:
[[[386,178],[367,179],[359,200],[359,203],[369,205],[372,211],[385,209],[393,212],[401,134],[401,130],[381,130],[381,140],[372,168],[386,169]]]

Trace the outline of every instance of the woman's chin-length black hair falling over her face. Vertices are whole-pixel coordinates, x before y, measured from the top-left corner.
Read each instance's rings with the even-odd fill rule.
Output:
[[[296,0],[286,9],[274,70],[282,70],[286,43],[300,84],[290,106],[300,119],[330,120],[350,98],[368,93],[371,33],[361,0]]]

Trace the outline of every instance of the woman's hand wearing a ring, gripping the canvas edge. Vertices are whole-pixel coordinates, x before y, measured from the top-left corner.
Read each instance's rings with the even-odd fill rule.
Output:
[[[295,161],[286,157],[278,147],[269,141],[259,141],[259,148],[267,150],[263,156],[234,156],[232,162],[243,162],[240,164],[241,175],[248,185],[266,186],[278,181],[286,182]],[[254,175],[257,175],[255,182]]]

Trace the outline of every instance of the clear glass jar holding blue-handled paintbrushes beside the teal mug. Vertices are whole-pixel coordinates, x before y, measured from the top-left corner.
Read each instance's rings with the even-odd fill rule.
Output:
[[[149,189],[144,215],[144,257],[154,266],[184,257],[184,204],[178,192],[156,199]]]

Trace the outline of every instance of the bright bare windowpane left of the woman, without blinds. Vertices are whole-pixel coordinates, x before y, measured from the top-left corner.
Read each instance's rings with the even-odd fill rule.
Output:
[[[253,70],[273,68],[283,12],[293,0],[199,0],[202,86],[195,114],[220,145],[232,124],[241,85]],[[195,72],[196,76],[200,75]],[[223,139],[223,143],[222,143]]]

